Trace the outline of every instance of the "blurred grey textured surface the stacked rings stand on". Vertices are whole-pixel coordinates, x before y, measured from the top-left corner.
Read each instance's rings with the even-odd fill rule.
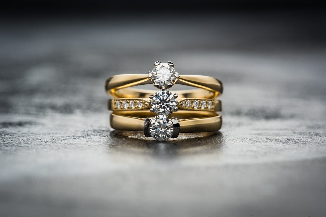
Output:
[[[321,18],[1,19],[0,216],[326,216]],[[156,60],[223,81],[219,132],[109,127],[105,79]]]

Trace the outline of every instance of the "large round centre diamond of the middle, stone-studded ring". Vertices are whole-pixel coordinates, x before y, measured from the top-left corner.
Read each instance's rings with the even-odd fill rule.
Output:
[[[171,115],[178,102],[170,91],[159,90],[154,94],[151,105],[157,115]]]

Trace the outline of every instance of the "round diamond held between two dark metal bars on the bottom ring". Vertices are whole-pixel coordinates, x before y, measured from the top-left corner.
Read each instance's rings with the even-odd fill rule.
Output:
[[[165,141],[171,137],[173,132],[172,120],[166,115],[157,115],[149,124],[149,130],[153,138],[158,141]]]

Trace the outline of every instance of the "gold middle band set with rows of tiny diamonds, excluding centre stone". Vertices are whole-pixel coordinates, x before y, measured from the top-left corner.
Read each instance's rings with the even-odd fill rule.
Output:
[[[119,98],[108,100],[109,111],[149,110],[151,101],[145,98]],[[222,111],[222,102],[211,99],[178,99],[178,109],[189,111]]]

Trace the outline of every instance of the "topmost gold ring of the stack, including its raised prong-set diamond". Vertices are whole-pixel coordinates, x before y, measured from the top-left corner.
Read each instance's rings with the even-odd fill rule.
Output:
[[[174,91],[181,98],[214,99],[223,92],[223,84],[218,79],[204,75],[179,75],[179,72],[176,72],[174,69],[174,63],[171,61],[168,61],[168,63],[156,61],[153,71],[147,75],[127,74],[112,76],[106,80],[105,90],[108,95],[115,98],[144,98],[152,92],[131,87],[145,84],[153,84],[156,88],[162,90],[170,89],[174,84],[197,88]]]

